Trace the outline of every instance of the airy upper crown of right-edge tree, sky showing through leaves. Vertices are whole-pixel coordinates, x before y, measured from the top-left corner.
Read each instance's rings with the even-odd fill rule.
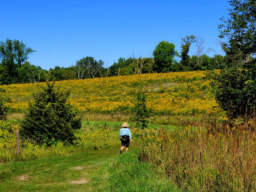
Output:
[[[246,60],[256,54],[256,4],[254,0],[229,0],[228,3],[229,18],[221,18],[219,37],[226,38],[223,48],[231,59]]]

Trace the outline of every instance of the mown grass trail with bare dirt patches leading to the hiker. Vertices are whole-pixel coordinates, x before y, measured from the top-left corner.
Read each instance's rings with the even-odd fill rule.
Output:
[[[95,191],[100,166],[119,148],[0,164],[0,191]]]

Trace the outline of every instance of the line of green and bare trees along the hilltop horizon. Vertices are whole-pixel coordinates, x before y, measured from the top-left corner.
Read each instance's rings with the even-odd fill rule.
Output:
[[[70,67],[55,66],[49,70],[42,69],[28,62],[30,54],[36,52],[20,40],[6,39],[0,41],[0,85],[61,81],[67,79],[85,79],[107,76],[135,75],[143,73],[167,73],[193,70],[212,70],[222,68],[227,58],[216,54],[209,57],[204,40],[194,35],[181,38],[180,54],[175,45],[162,41],[156,45],[153,56],[139,57],[132,52],[127,59],[120,57],[110,67],[104,67],[102,60],[86,56]],[[189,47],[196,44],[197,51],[191,57]]]

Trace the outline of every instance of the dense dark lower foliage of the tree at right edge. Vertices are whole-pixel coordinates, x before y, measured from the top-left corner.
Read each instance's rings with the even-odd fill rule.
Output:
[[[256,67],[239,69],[237,67],[221,70],[215,90],[220,106],[233,117],[249,116],[255,111]]]

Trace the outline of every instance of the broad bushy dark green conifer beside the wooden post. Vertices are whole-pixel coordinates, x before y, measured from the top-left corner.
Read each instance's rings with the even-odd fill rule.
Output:
[[[46,146],[58,142],[70,143],[76,139],[75,129],[81,128],[81,119],[67,102],[70,91],[60,91],[55,84],[35,92],[28,112],[22,121],[21,134]]]

